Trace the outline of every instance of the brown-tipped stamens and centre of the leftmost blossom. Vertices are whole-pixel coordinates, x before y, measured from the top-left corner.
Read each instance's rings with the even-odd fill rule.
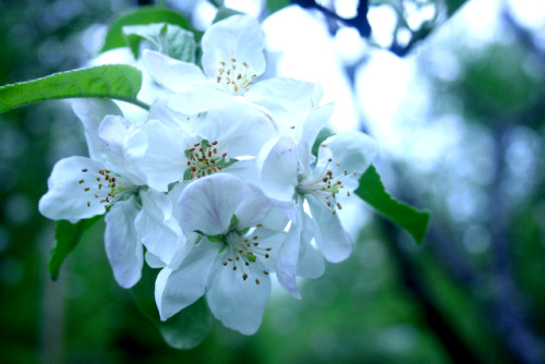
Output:
[[[90,207],[90,204],[98,203],[102,204],[105,209],[108,209],[123,196],[135,193],[140,189],[124,177],[112,173],[108,169],[99,169],[95,172],[84,168],[82,172],[87,178],[81,179],[78,183],[83,191],[89,193],[88,207]]]

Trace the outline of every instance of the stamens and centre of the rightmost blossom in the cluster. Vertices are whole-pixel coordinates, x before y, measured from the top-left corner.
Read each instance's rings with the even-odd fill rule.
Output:
[[[351,175],[356,175],[356,172],[349,173],[347,170],[340,170],[340,173],[334,175],[334,171],[328,167],[332,163],[332,159],[329,158],[327,165],[324,167],[322,172],[307,174],[299,174],[299,185],[295,191],[304,196],[306,194],[312,194],[322,201],[331,213],[337,214],[337,209],[342,209],[342,205],[337,202],[337,194],[342,192],[344,185],[342,181]],[[340,167],[339,162],[336,162],[337,167]],[[350,191],[347,191],[347,197],[350,196]]]

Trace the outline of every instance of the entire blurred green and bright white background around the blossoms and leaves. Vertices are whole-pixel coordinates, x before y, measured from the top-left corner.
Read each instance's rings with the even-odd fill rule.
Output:
[[[302,301],[275,289],[255,336],[216,321],[170,349],[114,282],[104,225],[50,280],[37,202],[86,146],[65,101],[26,106],[0,114],[0,363],[545,362],[545,4],[293,2],[226,0],[264,21],[269,75],[319,82],[335,128],[377,139],[388,190],[433,214],[424,243],[352,206],[354,253],[301,281]],[[109,21],[143,4],[0,0],[0,85],[88,64]],[[202,29],[216,13],[160,4]]]

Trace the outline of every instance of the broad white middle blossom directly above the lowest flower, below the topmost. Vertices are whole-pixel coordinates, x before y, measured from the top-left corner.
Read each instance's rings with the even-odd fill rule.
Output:
[[[145,175],[147,185],[162,192],[171,183],[220,171],[246,182],[255,180],[255,160],[249,157],[255,158],[262,145],[277,135],[265,113],[240,102],[189,118],[169,110],[161,100],[149,117],[152,120],[133,128],[124,153]]]

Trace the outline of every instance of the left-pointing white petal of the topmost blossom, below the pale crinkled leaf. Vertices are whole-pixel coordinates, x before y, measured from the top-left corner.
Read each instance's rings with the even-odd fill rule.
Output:
[[[173,92],[182,92],[193,87],[195,83],[205,82],[206,77],[193,63],[178,61],[153,50],[144,50],[142,58],[154,80]]]

